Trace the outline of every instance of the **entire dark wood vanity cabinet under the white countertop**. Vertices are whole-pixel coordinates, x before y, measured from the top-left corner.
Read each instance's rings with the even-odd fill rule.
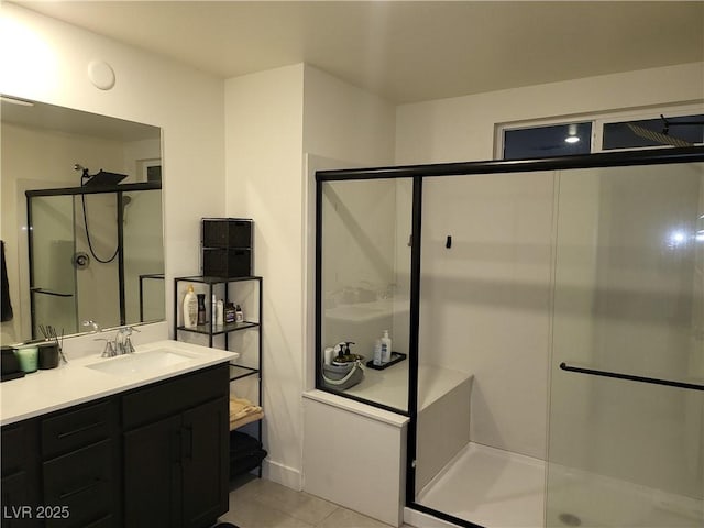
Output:
[[[3,427],[2,528],[211,526],[228,395],[226,363]]]

